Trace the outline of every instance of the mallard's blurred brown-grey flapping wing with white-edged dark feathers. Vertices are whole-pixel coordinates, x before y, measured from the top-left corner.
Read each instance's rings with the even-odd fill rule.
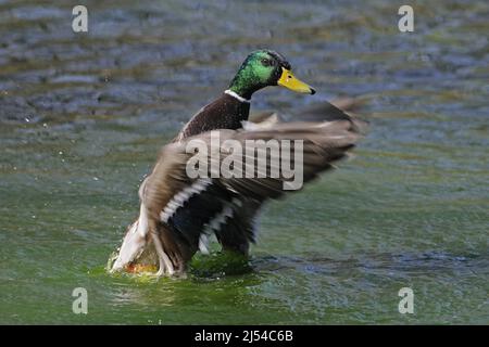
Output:
[[[297,179],[280,170],[278,176],[271,177],[274,168],[281,167],[286,159],[285,146],[290,145],[292,153],[290,167],[302,167],[305,183],[347,155],[359,140],[356,128],[352,119],[288,123],[264,130],[220,130],[221,145],[217,147],[211,146],[213,134],[210,132],[172,143],[163,149],[153,172],[145,182],[142,202],[151,218],[165,223],[192,250],[204,249],[206,235],[215,233],[225,248],[246,253],[249,243],[254,241],[256,211],[267,200],[290,192],[287,187]],[[195,153],[187,153],[186,146],[192,140],[201,141],[209,149],[206,177],[191,179],[187,175],[187,164]],[[255,164],[248,177],[211,178],[212,168],[223,167],[231,154],[222,145],[227,140],[243,149],[238,154],[233,152],[233,168],[240,167],[244,171],[250,163]],[[276,141],[280,153],[278,162],[273,160],[274,152],[269,149],[247,151],[250,140]],[[294,150],[301,150],[302,158],[293,155]],[[266,157],[265,167],[256,165],[260,154]]]

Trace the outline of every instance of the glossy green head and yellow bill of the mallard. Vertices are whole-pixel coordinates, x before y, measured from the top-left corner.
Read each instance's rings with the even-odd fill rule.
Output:
[[[292,75],[290,64],[284,56],[271,50],[250,53],[230,82],[229,89],[244,99],[250,99],[256,90],[267,86],[283,86],[301,93],[315,93],[313,88]]]

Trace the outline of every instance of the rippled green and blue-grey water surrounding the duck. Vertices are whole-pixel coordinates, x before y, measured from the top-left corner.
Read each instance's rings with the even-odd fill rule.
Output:
[[[0,323],[489,323],[489,7],[411,4],[401,34],[387,0],[87,1],[75,35],[65,2],[0,1]],[[355,158],[267,206],[251,271],[109,275],[160,146],[262,47],[318,93],[252,108],[359,97]]]

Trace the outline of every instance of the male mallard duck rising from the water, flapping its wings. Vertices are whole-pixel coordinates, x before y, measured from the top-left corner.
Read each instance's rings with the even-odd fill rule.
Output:
[[[315,93],[293,76],[290,64],[277,52],[260,50],[249,54],[229,88],[191,117],[175,140],[162,149],[151,175],[139,189],[139,217],[128,227],[111,271],[148,266],[158,269],[158,275],[184,273],[199,249],[208,252],[206,242],[212,234],[223,249],[248,255],[250,243],[255,242],[259,210],[266,201],[286,194],[286,183],[292,178],[284,172],[268,175],[274,154],[266,149],[262,151],[266,172],[253,167],[252,175],[246,177],[213,175],[212,163],[220,167],[226,160],[225,154],[230,153],[223,150],[224,142],[247,147],[251,140],[283,141],[279,156],[285,153],[281,143],[292,143],[294,150],[301,144],[302,163],[296,156],[291,162],[294,167],[303,164],[303,182],[331,168],[354,146],[361,123],[329,104],[327,114],[334,117],[327,121],[281,123],[275,114],[260,123],[249,121],[251,97],[268,86]],[[189,143],[197,140],[210,145],[216,132],[218,147],[211,150],[216,156],[210,155],[204,169],[208,176],[190,177],[188,164],[196,149],[188,151]],[[233,168],[243,168],[249,157],[249,153],[235,155]],[[254,159],[252,163],[256,163]],[[284,159],[279,157],[277,163]]]

